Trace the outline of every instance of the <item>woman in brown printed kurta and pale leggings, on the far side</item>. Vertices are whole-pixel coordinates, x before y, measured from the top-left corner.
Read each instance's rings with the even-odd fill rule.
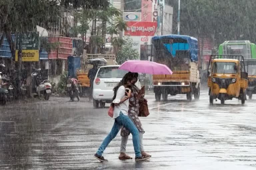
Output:
[[[129,99],[129,110],[128,110],[128,116],[129,118],[132,120],[132,122],[134,123],[135,127],[139,130],[139,137],[140,137],[140,151],[142,155],[147,155],[150,156],[149,154],[147,154],[144,151],[143,148],[143,133],[145,133],[140,119],[138,117],[138,113],[139,113],[139,102],[140,100],[143,100],[144,98],[144,94],[140,96],[139,91],[140,89],[135,85],[135,83],[138,80],[138,73],[132,73],[133,74],[133,81],[132,81],[132,94],[131,94],[131,98]],[[128,141],[128,136],[130,134],[130,131],[127,128],[122,128],[121,129],[121,149],[120,149],[120,156],[119,159],[124,160],[124,159],[132,159],[130,156],[126,155],[126,144]]]

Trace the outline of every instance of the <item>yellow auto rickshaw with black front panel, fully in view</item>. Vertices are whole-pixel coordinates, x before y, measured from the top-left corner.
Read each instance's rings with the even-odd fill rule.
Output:
[[[248,87],[246,66],[242,55],[211,55],[208,65],[210,104],[213,104],[214,99],[224,104],[225,100],[232,98],[245,103]]]

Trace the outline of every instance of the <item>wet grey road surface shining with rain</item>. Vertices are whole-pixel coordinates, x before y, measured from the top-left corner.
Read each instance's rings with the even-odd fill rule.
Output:
[[[120,161],[118,134],[104,153],[109,162],[100,163],[93,154],[113,125],[107,108],[52,97],[0,107],[0,169],[256,169],[256,100],[210,106],[207,91],[191,103],[184,95],[146,98],[148,161]],[[131,138],[127,151],[134,157]]]

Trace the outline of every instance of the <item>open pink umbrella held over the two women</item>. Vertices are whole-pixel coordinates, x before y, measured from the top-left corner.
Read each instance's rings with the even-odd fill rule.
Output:
[[[119,69],[146,74],[172,74],[172,70],[164,64],[147,60],[128,60],[119,66]]]

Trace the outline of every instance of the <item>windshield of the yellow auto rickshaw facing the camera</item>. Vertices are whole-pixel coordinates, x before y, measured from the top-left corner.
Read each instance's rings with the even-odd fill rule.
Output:
[[[236,63],[234,62],[215,62],[213,64],[213,73],[227,73],[236,74],[235,70]]]

